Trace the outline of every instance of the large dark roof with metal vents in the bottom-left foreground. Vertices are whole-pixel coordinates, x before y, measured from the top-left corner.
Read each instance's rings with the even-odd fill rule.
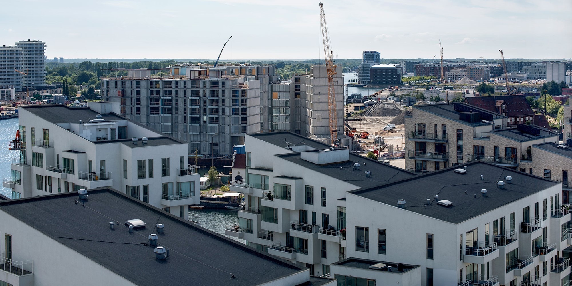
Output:
[[[0,209],[136,285],[257,285],[303,271],[112,189],[89,190],[85,207],[76,192],[0,202]],[[125,220],[147,225],[129,233]],[[119,221],[115,229],[109,221]],[[158,261],[148,236],[170,249]],[[159,275],[161,273],[161,275]],[[231,273],[235,275],[232,279]]]

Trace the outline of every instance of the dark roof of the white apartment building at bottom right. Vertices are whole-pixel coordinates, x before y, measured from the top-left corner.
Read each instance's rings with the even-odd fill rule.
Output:
[[[467,173],[453,171],[462,166],[467,166]],[[484,180],[480,175],[484,175]],[[506,176],[513,177],[512,184],[506,183]],[[505,181],[505,189],[499,189],[497,181]],[[406,210],[458,224],[557,184],[560,182],[474,161],[349,193],[392,206],[397,206],[398,200],[405,200]],[[486,197],[481,196],[481,189],[487,189]],[[438,205],[436,195],[439,200],[451,201],[452,206]],[[431,199],[430,205],[426,205],[427,198]]]

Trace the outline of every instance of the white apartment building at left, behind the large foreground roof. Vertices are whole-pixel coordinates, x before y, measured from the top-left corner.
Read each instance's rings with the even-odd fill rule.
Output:
[[[14,198],[112,187],[181,218],[200,203],[188,145],[117,114],[119,105],[20,106],[22,150],[3,186]]]

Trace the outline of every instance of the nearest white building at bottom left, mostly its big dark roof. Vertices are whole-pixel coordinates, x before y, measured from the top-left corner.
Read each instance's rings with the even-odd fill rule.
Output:
[[[0,203],[1,285],[336,285],[117,190],[87,195]]]

